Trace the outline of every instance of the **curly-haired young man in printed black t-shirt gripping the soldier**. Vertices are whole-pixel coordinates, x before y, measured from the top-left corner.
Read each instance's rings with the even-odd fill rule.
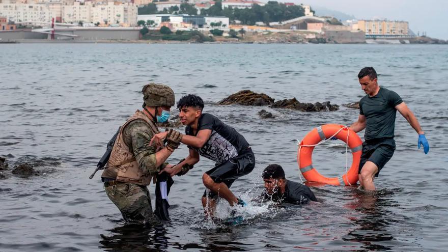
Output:
[[[202,177],[204,185],[210,190],[211,198],[207,201],[207,193],[202,197],[206,215],[213,214],[218,196],[227,200],[231,206],[246,205],[229,189],[237,178],[254,170],[255,156],[246,139],[215,116],[203,113],[204,102],[199,96],[182,97],[177,102],[177,108],[181,123],[186,125],[181,143],[188,146],[189,155],[178,165],[164,171],[172,176],[185,174],[185,164],[191,169],[192,165],[199,162],[200,156],[211,159],[216,162],[216,166]],[[159,133],[153,139],[161,143],[168,134],[170,133]]]

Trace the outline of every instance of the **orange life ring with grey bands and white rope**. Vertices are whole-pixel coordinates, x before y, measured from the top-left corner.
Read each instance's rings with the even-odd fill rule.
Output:
[[[352,165],[350,170],[342,176],[336,178],[327,178],[322,176],[313,166],[311,155],[314,147],[321,141],[331,137],[335,133],[338,139],[346,142],[350,147],[353,155]],[[347,139],[348,137],[348,139]],[[344,125],[326,124],[314,128],[305,135],[300,148],[297,152],[297,163],[299,170],[307,181],[325,183],[330,185],[355,185],[358,181],[359,161],[361,159],[362,141],[361,138],[351,129]]]

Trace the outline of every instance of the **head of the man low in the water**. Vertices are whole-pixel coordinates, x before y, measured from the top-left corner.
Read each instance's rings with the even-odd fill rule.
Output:
[[[285,171],[278,164],[269,164],[261,175],[264,181],[264,188],[270,195],[274,193],[284,193],[286,187]]]

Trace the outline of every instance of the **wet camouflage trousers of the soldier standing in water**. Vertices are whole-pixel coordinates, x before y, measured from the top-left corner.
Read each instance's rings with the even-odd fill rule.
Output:
[[[158,218],[152,211],[151,198],[146,186],[119,183],[104,188],[110,201],[120,210],[127,222],[157,225]]]

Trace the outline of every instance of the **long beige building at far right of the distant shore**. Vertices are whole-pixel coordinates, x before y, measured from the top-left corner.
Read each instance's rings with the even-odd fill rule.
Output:
[[[409,35],[409,23],[406,21],[358,20],[357,29],[366,35]]]

